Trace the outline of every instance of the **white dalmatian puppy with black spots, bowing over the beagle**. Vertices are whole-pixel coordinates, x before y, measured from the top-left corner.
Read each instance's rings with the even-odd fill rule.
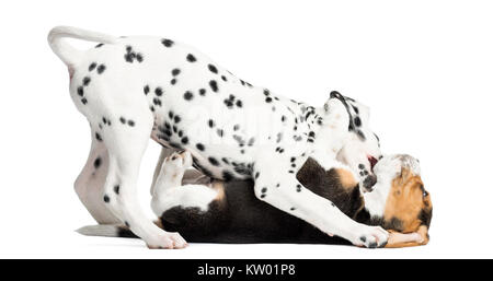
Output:
[[[79,50],[65,38],[98,45]],[[180,234],[154,225],[137,203],[139,166],[151,138],[190,151],[194,166],[209,177],[253,179],[260,200],[326,234],[367,247],[387,242],[381,227],[355,222],[296,178],[309,155],[329,165],[343,143],[357,143],[345,139],[347,128],[359,140],[377,141],[360,127],[366,116],[354,101],[333,93],[316,108],[275,95],[168,38],[118,38],[59,26],[50,31],[48,43],[67,65],[70,96],[91,127],[91,151],[76,189],[93,215],[110,210],[100,223],[124,222],[149,248],[186,245]],[[346,161],[357,165],[360,177],[370,178],[362,183],[371,188],[371,166],[379,154],[365,145],[355,151],[358,156]]]

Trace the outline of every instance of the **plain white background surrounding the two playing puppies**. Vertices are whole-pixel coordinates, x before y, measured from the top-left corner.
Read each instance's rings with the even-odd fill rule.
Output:
[[[369,105],[382,150],[421,160],[434,203],[431,243],[147,250],[137,239],[78,235],[94,223],[72,187],[90,131],[46,42],[60,24],[170,37],[277,94],[320,106],[337,90]],[[0,257],[493,257],[489,1],[9,1],[0,36]],[[149,215],[158,153],[151,143],[140,174]]]

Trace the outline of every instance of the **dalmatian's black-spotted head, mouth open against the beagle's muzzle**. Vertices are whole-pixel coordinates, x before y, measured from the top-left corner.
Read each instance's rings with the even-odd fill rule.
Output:
[[[369,107],[339,92],[331,98],[340,99],[349,115],[348,138],[337,154],[337,160],[357,172],[360,187],[371,191],[377,183],[374,167],[381,157],[380,140],[369,126]]]

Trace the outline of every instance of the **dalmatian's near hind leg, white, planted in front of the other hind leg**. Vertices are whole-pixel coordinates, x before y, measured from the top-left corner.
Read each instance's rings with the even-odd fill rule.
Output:
[[[110,115],[110,114],[108,114]],[[152,118],[146,113],[129,113],[131,125],[115,124],[102,131],[108,150],[108,173],[101,200],[150,248],[182,248],[186,242],[176,233],[156,226],[138,204],[137,179],[140,162],[152,129]]]

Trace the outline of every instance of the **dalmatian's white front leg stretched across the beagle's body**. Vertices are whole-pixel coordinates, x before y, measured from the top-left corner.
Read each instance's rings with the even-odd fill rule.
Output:
[[[273,169],[272,163],[276,163]],[[343,237],[354,245],[381,247],[388,233],[379,226],[357,223],[339,210],[331,201],[305,188],[290,171],[289,157],[264,153],[255,162],[255,196],[306,222],[322,232]]]

